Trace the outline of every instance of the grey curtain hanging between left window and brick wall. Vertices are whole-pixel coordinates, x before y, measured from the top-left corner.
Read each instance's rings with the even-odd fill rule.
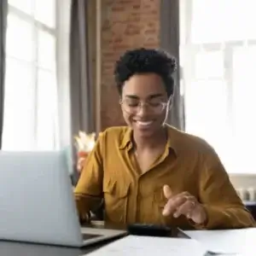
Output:
[[[69,53],[73,134],[78,134],[79,131],[88,133],[96,131],[89,32],[91,18],[89,12],[93,4],[91,1],[93,0],[72,0]]]

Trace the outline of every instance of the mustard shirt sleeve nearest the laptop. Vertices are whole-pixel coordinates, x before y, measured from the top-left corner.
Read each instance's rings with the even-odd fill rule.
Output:
[[[74,189],[74,197],[81,221],[85,221],[90,211],[96,210],[102,202],[103,137],[104,133],[97,139],[95,148],[88,155],[79,182]]]

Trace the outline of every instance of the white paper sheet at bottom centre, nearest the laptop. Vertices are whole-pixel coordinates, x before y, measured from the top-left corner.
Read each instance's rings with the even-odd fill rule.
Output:
[[[89,253],[90,256],[204,256],[200,243],[187,238],[126,236]]]

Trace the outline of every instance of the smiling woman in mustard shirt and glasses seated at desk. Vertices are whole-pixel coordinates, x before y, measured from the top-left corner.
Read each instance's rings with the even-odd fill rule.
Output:
[[[175,59],[158,49],[129,50],[117,61],[127,126],[104,131],[86,161],[75,189],[81,220],[103,198],[107,223],[254,225],[211,146],[166,124],[175,69]]]

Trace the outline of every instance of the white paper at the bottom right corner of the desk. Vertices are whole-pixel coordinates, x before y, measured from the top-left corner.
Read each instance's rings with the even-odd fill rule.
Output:
[[[256,229],[183,231],[211,253],[256,255]]]

